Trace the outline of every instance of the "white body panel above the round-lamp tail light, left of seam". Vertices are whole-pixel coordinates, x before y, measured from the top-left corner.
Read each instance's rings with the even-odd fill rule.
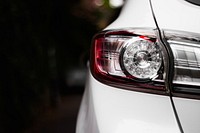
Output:
[[[121,14],[106,29],[156,28],[149,0],[127,0]]]

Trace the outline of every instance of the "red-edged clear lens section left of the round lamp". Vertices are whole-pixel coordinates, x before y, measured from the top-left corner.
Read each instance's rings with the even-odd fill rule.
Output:
[[[129,38],[105,37],[96,40],[95,60],[101,73],[125,76],[120,67],[120,51]]]

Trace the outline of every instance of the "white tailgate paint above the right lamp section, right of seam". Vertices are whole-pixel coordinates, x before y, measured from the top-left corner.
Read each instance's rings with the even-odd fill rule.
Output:
[[[160,29],[200,33],[200,6],[185,0],[151,0]]]

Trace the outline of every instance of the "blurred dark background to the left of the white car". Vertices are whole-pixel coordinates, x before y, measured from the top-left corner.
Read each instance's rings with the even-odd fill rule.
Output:
[[[0,1],[0,133],[75,132],[91,39],[122,3]]]

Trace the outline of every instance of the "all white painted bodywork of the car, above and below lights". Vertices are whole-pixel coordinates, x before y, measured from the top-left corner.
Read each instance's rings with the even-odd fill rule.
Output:
[[[140,27],[200,33],[200,6],[184,0],[127,0],[105,30]],[[182,132],[200,132],[200,100],[112,87],[88,70],[76,133]]]

